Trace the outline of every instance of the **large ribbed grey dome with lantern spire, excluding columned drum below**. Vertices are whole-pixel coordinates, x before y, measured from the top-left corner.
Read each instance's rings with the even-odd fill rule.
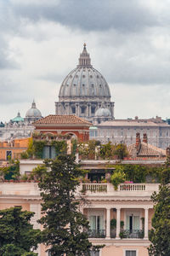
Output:
[[[105,78],[91,65],[86,44],[79,58],[79,65],[64,79],[59,90],[59,101],[65,98],[98,98],[111,100],[111,92]]]

